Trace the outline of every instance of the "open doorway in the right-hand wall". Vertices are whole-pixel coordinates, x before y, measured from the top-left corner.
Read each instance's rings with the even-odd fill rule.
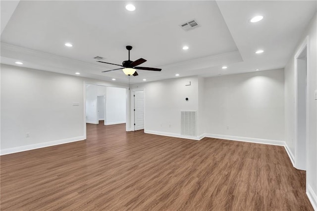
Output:
[[[307,162],[307,45],[295,55],[295,167],[306,170]]]

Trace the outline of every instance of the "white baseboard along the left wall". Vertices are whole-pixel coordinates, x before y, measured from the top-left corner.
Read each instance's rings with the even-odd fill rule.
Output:
[[[31,145],[26,145],[21,147],[13,147],[13,148],[0,150],[0,155],[2,156],[2,155],[12,154],[12,153],[19,153],[23,151],[35,150],[39,148],[50,147],[54,145],[66,144],[66,143],[82,141],[82,140],[85,140],[84,136],[78,136],[78,137],[38,143],[38,144],[31,144]]]

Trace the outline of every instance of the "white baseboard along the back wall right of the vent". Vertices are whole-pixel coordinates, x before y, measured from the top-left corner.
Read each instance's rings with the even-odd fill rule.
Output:
[[[208,138],[216,138],[216,139],[225,139],[225,140],[233,140],[233,141],[251,142],[251,143],[257,143],[257,144],[270,144],[270,145],[277,145],[277,146],[285,146],[284,141],[276,141],[276,140],[269,140],[269,139],[257,139],[257,138],[228,136],[228,135],[219,135],[219,134],[210,134],[210,133],[204,133],[203,136],[208,137]]]

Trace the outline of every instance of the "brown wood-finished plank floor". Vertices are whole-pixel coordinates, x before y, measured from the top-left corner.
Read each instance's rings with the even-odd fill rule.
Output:
[[[1,156],[1,211],[313,211],[283,147],[87,124],[87,140]]]

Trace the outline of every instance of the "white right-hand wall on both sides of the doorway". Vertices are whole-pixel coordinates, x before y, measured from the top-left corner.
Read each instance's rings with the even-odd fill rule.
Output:
[[[317,16],[312,18],[298,47],[285,67],[285,142],[291,153],[295,155],[295,68],[294,56],[299,51],[301,44],[309,36],[308,50],[308,111],[309,128],[307,143],[307,171],[306,186],[308,196],[317,210],[317,100],[314,100],[314,92],[317,90]]]

